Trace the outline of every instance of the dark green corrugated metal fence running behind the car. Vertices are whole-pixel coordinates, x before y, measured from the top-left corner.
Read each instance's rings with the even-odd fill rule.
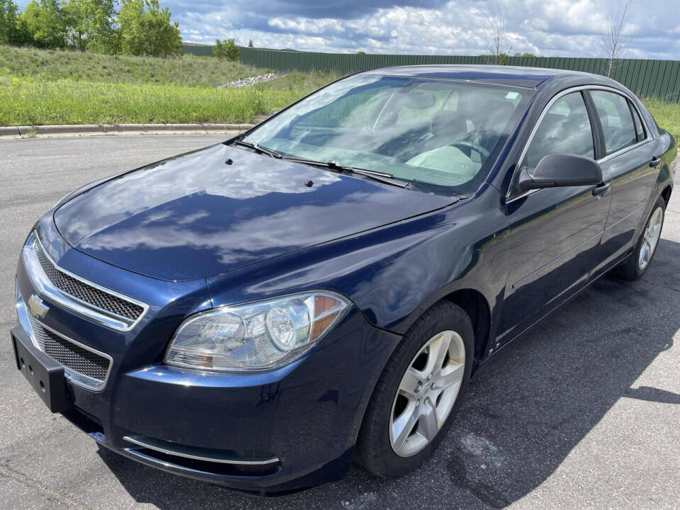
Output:
[[[351,53],[315,53],[285,50],[240,48],[242,64],[274,71],[353,72],[396,65],[416,64],[487,64],[486,57],[455,55],[357,55]],[[570,69],[606,74],[606,59],[565,57],[508,57],[507,65]],[[680,60],[618,60],[611,77],[643,98],[659,98],[680,103]]]

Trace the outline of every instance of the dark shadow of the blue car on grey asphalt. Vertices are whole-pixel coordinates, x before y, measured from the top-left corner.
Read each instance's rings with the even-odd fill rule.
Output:
[[[550,477],[619,399],[680,404],[636,385],[672,347],[679,307],[680,244],[662,239],[642,280],[601,278],[482,367],[436,455],[399,480],[353,467],[341,482],[261,499],[100,455],[137,502],[164,510],[503,508]]]

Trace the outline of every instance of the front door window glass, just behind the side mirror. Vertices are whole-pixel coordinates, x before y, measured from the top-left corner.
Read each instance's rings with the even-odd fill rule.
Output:
[[[567,94],[548,108],[526,152],[526,165],[535,168],[553,152],[595,157],[593,130],[580,92]]]

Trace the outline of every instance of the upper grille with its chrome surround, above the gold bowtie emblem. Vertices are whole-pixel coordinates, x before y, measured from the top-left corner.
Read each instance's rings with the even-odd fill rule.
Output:
[[[74,313],[118,331],[130,331],[149,306],[61,268],[42,247],[37,232],[24,246],[26,271],[43,297]]]

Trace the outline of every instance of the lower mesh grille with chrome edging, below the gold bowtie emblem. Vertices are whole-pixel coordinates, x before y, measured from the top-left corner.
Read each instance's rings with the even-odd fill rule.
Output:
[[[99,389],[106,381],[111,361],[100,354],[89,351],[45,328],[40,322],[31,319],[33,334],[42,351],[68,370],[72,370],[82,384]],[[84,376],[79,378],[77,376]]]

